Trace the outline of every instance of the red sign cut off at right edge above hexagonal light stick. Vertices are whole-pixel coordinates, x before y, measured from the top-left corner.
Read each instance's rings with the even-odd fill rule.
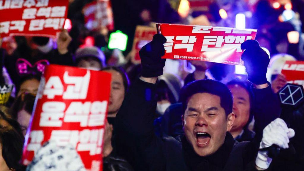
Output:
[[[304,86],[304,61],[286,61],[281,73],[288,83]]]

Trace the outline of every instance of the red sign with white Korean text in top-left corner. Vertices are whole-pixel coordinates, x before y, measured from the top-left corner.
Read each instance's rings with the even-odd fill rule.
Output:
[[[67,18],[68,0],[0,1],[0,37],[56,37]]]

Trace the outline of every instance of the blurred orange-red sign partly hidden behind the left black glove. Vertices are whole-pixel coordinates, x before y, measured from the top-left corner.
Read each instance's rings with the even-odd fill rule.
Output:
[[[132,51],[135,51],[135,61],[140,63],[139,51],[144,45],[152,41],[154,34],[157,34],[157,31],[153,27],[136,26],[132,47]]]

